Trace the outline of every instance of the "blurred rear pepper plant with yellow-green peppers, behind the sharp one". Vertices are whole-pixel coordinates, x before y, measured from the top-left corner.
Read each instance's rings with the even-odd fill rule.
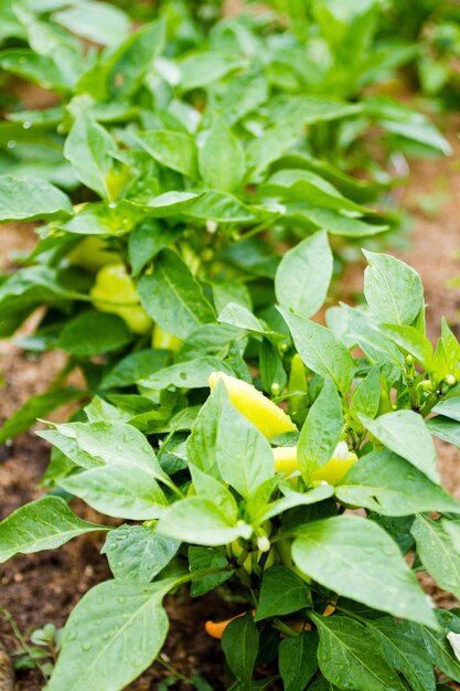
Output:
[[[346,22],[338,19],[339,50],[322,13],[318,31],[306,24],[303,35],[297,23],[281,30],[272,13],[203,28],[185,4],[167,2],[159,19],[129,33],[129,17],[105,3],[88,3],[90,29],[78,8],[57,6],[6,10],[4,38],[28,45],[7,47],[0,66],[53,89],[60,103],[18,106],[0,124],[0,220],[45,222],[21,268],[2,277],[0,334],[42,308],[35,332],[19,344],[61,349],[69,359],[53,389],[7,422],[2,440],[104,390],[95,357],[111,366],[132,355],[132,366],[150,368],[152,343],[170,352],[163,360],[157,353],[158,366],[164,358],[188,360],[186,348],[171,354],[178,339],[215,325],[228,301],[270,309],[282,248],[318,228],[335,238],[336,268],[347,246],[394,230],[394,214],[370,204],[395,181],[383,171],[367,180],[350,174],[370,127],[448,150],[422,116],[360,97],[405,55],[382,47],[377,60],[372,52],[376,7],[363,61],[344,89],[341,55],[351,38],[339,29]],[[366,17],[349,19],[357,31]],[[313,55],[318,41],[331,55],[323,72],[300,57]],[[298,64],[309,65],[306,74]],[[220,338],[207,354],[227,347],[222,329]],[[66,385],[77,366],[84,390]]]

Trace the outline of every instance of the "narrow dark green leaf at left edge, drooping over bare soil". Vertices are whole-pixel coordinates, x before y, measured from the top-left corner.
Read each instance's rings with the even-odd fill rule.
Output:
[[[85,392],[79,389],[57,389],[31,396],[0,428],[0,444],[29,429],[39,417],[44,417],[61,405],[81,398],[84,394]]]

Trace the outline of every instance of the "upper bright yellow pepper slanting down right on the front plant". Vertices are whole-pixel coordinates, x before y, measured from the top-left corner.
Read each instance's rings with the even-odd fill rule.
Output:
[[[266,398],[252,384],[224,372],[213,372],[210,375],[211,389],[214,389],[218,381],[224,382],[229,400],[236,410],[247,417],[268,439],[297,429],[289,415],[272,401]]]

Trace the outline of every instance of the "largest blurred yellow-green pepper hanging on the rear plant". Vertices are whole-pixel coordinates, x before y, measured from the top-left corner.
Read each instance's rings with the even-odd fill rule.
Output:
[[[96,309],[118,315],[132,333],[143,336],[150,331],[152,320],[140,306],[136,286],[122,264],[104,266],[89,295]]]

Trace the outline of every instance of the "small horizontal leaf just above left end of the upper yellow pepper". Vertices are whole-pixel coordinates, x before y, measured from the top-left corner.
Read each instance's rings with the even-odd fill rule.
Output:
[[[194,358],[189,362],[180,362],[169,368],[160,370],[148,379],[139,380],[140,386],[147,389],[202,389],[208,386],[210,374],[212,372],[225,372],[233,375],[233,370],[218,358],[207,355],[205,358]]]

